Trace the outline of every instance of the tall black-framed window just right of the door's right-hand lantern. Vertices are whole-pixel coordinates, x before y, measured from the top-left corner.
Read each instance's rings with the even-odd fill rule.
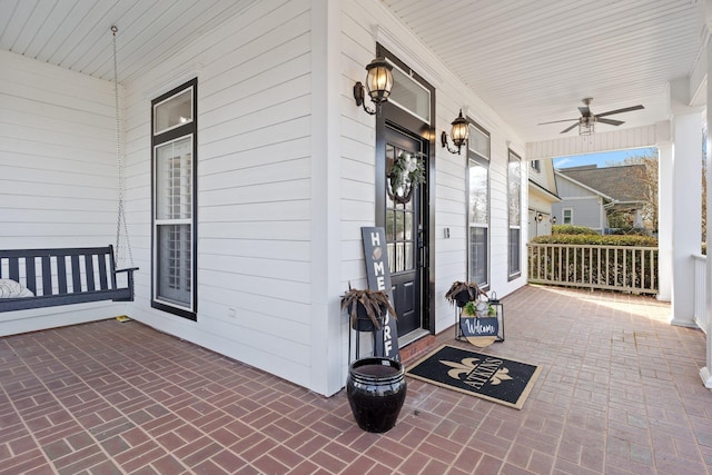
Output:
[[[469,125],[467,140],[467,261],[469,281],[490,286],[490,133]]]

